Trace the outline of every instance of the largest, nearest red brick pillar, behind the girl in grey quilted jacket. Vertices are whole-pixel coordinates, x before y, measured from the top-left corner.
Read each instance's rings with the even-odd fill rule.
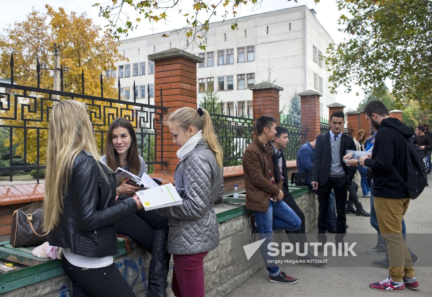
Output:
[[[197,109],[197,63],[203,62],[203,59],[178,48],[149,54],[148,59],[155,62],[155,105],[168,107],[168,112],[185,106]],[[164,116],[168,112],[165,111]],[[161,127],[159,115],[155,118],[159,120],[155,129],[162,129],[163,134],[162,139],[156,138],[156,161],[167,163],[156,164],[155,173],[174,175],[179,161],[176,153],[178,146],[173,144],[168,126]]]

